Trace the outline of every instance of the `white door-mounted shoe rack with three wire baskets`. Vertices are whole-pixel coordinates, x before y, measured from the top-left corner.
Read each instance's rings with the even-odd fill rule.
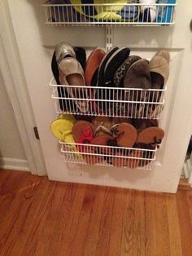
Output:
[[[117,16],[109,15],[107,18],[101,16],[99,20],[95,20],[91,15],[85,15],[82,10],[89,13],[103,13],[103,10],[112,10],[111,7],[119,7],[121,4],[51,4],[51,1],[46,2],[43,7],[45,8],[46,20],[48,25],[67,25],[67,26],[106,26],[106,50],[110,50],[113,46],[113,26],[125,25],[140,25],[140,26],[162,26],[172,25],[175,23],[175,3],[168,4],[151,4],[144,3],[126,3],[124,6],[129,10],[130,8],[137,7],[137,10],[142,10],[142,7],[154,8],[158,12],[161,9],[162,15],[156,16],[155,20],[149,20],[150,13],[148,11],[147,18],[144,20],[144,15],[136,15],[132,9],[135,19],[130,20],[128,16],[125,19],[122,11],[119,15],[124,18],[118,20]],[[104,9],[105,8],[105,9]],[[76,11],[78,10],[78,11]],[[110,11],[111,14],[112,11]],[[165,14],[165,16],[164,16]],[[57,85],[55,79],[50,81],[51,98],[54,101],[55,112],[58,114],[74,114],[74,115],[87,115],[87,116],[103,116],[103,117],[126,117],[138,119],[153,119],[159,120],[161,113],[164,109],[164,93],[166,87],[162,90],[143,90],[133,88],[117,88],[117,87],[97,87],[86,86],[85,95],[91,96],[89,99],[85,95],[81,95],[80,91],[82,86],[67,86]],[[74,97],[70,97],[66,91],[72,90]],[[62,96],[61,96],[62,95]],[[81,95],[81,96],[79,96]],[[109,95],[112,95],[109,97]],[[116,96],[115,96],[116,95]],[[147,95],[147,97],[146,97]],[[70,101],[90,104],[89,112],[81,113],[80,109],[76,108],[76,104],[71,104]],[[101,108],[95,109],[94,103],[97,103]],[[103,106],[107,105],[107,110],[103,111]],[[120,109],[120,110],[118,110]],[[69,163],[98,165],[98,166],[126,166],[131,169],[139,168],[144,170],[152,170],[155,164],[156,148],[121,148],[113,146],[95,146],[88,144],[65,143],[59,141],[61,152],[64,161]],[[79,148],[83,147],[83,152]],[[108,150],[107,150],[108,149]],[[122,153],[123,152],[123,153]]]

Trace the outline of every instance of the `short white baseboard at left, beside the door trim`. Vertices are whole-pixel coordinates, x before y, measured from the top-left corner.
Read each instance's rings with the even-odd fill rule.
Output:
[[[0,157],[0,168],[30,171],[27,160],[11,157]]]

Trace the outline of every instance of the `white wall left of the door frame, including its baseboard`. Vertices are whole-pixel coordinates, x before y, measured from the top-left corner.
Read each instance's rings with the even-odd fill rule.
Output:
[[[11,102],[0,72],[0,167],[28,169]]]

